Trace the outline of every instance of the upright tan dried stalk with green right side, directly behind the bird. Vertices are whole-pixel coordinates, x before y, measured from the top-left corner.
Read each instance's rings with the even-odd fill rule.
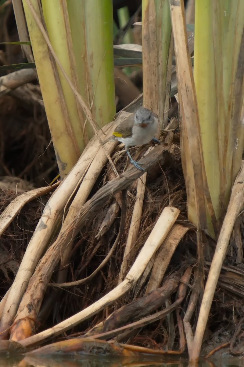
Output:
[[[171,24],[168,0],[142,2],[143,105],[163,126]]]

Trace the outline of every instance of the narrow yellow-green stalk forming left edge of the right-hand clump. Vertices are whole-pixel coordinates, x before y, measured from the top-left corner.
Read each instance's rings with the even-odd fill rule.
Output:
[[[219,219],[221,215],[220,187],[222,185],[222,170],[218,148],[218,106],[215,86],[212,17],[211,0],[204,2],[196,0],[194,81],[205,170],[207,178],[214,177],[214,180],[208,180],[208,184],[215,215]],[[191,220],[193,218],[194,215]],[[207,226],[211,235],[214,236],[209,213],[207,213]]]

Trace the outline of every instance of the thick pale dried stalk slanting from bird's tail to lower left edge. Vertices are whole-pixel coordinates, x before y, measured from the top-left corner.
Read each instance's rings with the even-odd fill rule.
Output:
[[[107,135],[105,135],[104,138],[109,137],[112,134],[114,126],[116,125],[113,121],[106,126],[105,130]],[[99,134],[101,137],[104,136],[102,135],[102,131],[100,131]],[[4,308],[3,317],[1,319],[1,327],[7,327],[12,323],[20,300],[28,286],[29,279],[50,241],[53,228],[56,228],[57,224],[60,222],[60,219],[64,214],[65,206],[67,206],[72,193],[76,189],[78,183],[87,171],[87,167],[90,165],[99,149],[101,149],[100,143],[94,137],[86,146],[76,165],[72,168],[67,177],[65,177],[61,185],[53,193],[52,197],[46,204],[42,217],[38,222],[35,232],[27,246],[14,283],[12,284],[8,300]]]

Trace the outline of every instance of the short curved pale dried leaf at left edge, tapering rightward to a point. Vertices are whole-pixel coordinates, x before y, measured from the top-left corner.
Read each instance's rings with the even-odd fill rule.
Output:
[[[10,225],[12,220],[16,217],[26,203],[29,203],[37,197],[47,194],[48,192],[56,189],[57,186],[59,186],[59,183],[55,183],[53,186],[46,186],[30,190],[24,192],[12,200],[0,215],[0,236],[4,233],[5,229]]]

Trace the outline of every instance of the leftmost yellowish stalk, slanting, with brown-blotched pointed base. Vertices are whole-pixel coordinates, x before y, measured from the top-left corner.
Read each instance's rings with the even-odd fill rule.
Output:
[[[64,99],[56,63],[30,11],[33,6],[42,21],[40,3],[37,0],[23,0],[31,46],[41,86],[48,124],[61,177],[64,177],[79,158],[80,150],[75,132],[70,124],[67,104]],[[71,148],[72,147],[72,148]]]

